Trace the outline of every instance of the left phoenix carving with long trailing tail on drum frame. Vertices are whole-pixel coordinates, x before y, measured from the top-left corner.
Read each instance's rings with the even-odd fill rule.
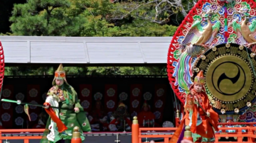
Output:
[[[220,29],[220,21],[212,24],[211,20],[215,21],[213,18],[210,20],[212,13],[213,11],[209,9],[204,13],[203,18],[196,19],[181,43],[181,50],[183,51],[181,51],[178,68],[176,68],[177,70],[173,76],[178,79],[175,84],[180,85],[186,91],[188,91],[188,86],[192,84],[193,57],[201,55],[203,50],[208,49]],[[184,63],[188,64],[188,66],[183,66]]]

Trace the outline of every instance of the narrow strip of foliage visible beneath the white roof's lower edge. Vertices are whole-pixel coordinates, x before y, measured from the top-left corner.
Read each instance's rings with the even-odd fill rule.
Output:
[[[5,76],[53,75],[53,67],[6,67]],[[67,75],[113,76],[113,75],[166,75],[161,67],[64,67]]]

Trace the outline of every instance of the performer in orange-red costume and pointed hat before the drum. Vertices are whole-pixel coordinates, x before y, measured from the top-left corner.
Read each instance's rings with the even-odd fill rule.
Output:
[[[203,71],[200,71],[194,79],[190,93],[186,96],[184,105],[186,114],[183,115],[181,125],[178,126],[169,143],[180,143],[187,125],[191,127],[194,142],[210,142],[210,138],[215,137],[214,130],[218,131],[219,116],[209,103],[203,87],[204,82]]]

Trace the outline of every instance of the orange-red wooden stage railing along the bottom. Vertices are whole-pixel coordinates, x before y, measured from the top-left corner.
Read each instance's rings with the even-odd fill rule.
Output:
[[[233,142],[247,142],[252,143],[255,142],[255,132],[256,127],[252,127],[252,125],[256,125],[256,122],[223,122],[220,123],[220,125],[247,125],[247,127],[220,127],[219,129],[222,131],[225,130],[235,130],[235,132],[220,132],[215,134],[215,142],[219,142],[218,139],[220,137],[234,137],[237,139],[237,141]],[[162,143],[168,143],[169,139],[172,137],[172,135],[164,135],[165,132],[175,132],[177,127],[139,127],[137,117],[134,117],[134,120],[132,122],[132,143],[142,143],[142,138],[164,138],[164,142]],[[242,132],[242,130],[246,130],[246,132]],[[0,143],[4,139],[23,139],[24,143],[29,143],[29,139],[41,139],[42,136],[18,136],[18,137],[2,137],[1,135],[4,133],[17,133],[17,132],[40,132],[42,133],[44,129],[11,129],[11,130],[0,130]],[[155,131],[150,132],[150,134],[163,134],[163,135],[142,135],[142,133],[146,133],[147,131]],[[21,133],[22,134],[22,133]],[[247,137],[247,141],[242,141],[243,137]],[[221,143],[230,143],[230,142],[221,142]]]

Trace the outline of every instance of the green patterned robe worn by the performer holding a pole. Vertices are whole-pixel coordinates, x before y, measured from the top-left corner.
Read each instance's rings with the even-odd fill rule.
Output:
[[[63,86],[53,86],[47,93],[50,98],[55,98],[58,100],[59,104],[59,118],[60,120],[68,127],[68,130],[65,132],[60,132],[59,135],[55,137],[54,142],[58,142],[60,139],[72,139],[73,127],[78,126],[81,132],[81,139],[84,140],[82,131],[89,132],[91,130],[90,123],[87,120],[85,112],[80,105],[80,100],[78,100],[78,94],[75,92],[74,88],[68,84],[63,84]],[[60,100],[60,97],[63,96],[65,100]],[[63,99],[64,99],[63,98]],[[46,99],[46,102],[48,99]],[[79,108],[80,112],[75,113],[74,108]],[[46,124],[46,130],[43,133],[43,139],[41,139],[41,143],[50,142],[48,141],[47,135],[50,134],[50,130],[48,129],[50,125],[51,119],[48,119]],[[57,127],[55,128],[57,131]],[[70,140],[66,140],[70,142]],[[52,143],[52,142],[51,142]]]

